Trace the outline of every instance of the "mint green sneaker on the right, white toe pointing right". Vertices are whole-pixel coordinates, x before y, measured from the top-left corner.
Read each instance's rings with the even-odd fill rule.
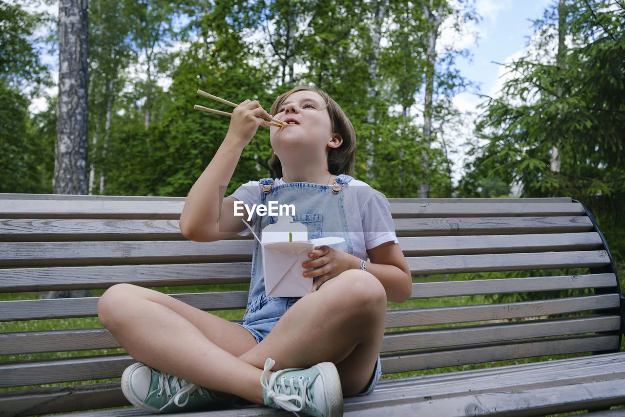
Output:
[[[324,362],[307,369],[282,369],[267,378],[275,363],[267,359],[261,375],[265,405],[315,417],[343,415],[341,381],[333,363]]]

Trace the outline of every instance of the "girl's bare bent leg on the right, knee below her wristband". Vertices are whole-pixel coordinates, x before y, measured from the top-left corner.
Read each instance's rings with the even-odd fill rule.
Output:
[[[241,356],[273,370],[336,364],[345,396],[360,393],[371,378],[384,336],[386,293],[376,277],[348,270],[297,301],[259,344]]]

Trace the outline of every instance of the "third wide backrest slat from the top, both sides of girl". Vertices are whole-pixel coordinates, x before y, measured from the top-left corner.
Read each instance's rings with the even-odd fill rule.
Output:
[[[602,246],[597,233],[400,237],[406,256],[589,250]],[[221,242],[0,242],[0,266],[244,262],[252,240]]]

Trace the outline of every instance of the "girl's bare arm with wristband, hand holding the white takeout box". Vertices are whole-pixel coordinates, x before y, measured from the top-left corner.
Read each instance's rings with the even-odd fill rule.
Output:
[[[404,302],[412,294],[412,275],[399,245],[386,242],[367,250],[371,262],[366,262],[367,272],[374,275],[386,290],[386,299],[392,302]],[[302,263],[304,277],[319,277],[312,291],[328,279],[332,279],[348,269],[361,269],[360,259],[342,250],[321,246],[308,254],[311,260]],[[316,258],[316,259],[315,259]]]

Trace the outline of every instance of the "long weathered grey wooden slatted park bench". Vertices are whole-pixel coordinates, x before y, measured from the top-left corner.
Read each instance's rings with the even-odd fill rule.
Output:
[[[625,404],[624,303],[606,242],[580,203],[390,201],[415,275],[413,301],[389,303],[381,356],[383,373],[394,378],[382,379],[371,396],[345,399],[347,415],[529,416]],[[97,319],[73,321],[95,317],[98,297],[39,299],[37,292],[201,285],[209,290],[183,288],[176,297],[209,311],[244,308],[252,240],[185,240],[183,204],[0,195],[0,416],[102,408],[109,410],[84,415],[142,414],[110,409],[128,404],[110,379],[133,359],[96,328]],[[84,322],[88,328],[77,328]],[[545,358],[514,364],[536,356]],[[477,365],[492,361],[508,362]],[[397,374],[440,367],[452,368]],[[274,413],[281,412],[247,406],[207,414]]]

